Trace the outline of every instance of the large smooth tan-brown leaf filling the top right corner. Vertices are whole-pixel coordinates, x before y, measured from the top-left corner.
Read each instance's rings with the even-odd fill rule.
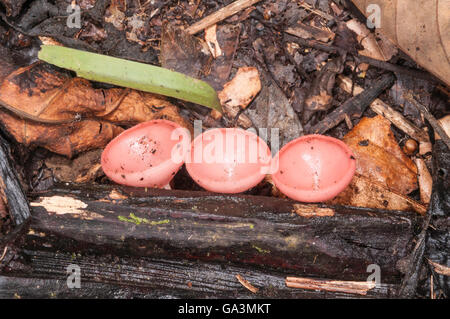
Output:
[[[366,15],[378,5],[380,31],[414,61],[450,85],[450,6],[448,0],[352,0]]]

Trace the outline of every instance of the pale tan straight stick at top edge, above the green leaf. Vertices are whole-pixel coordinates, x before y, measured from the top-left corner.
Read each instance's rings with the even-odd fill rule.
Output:
[[[259,2],[261,0],[237,0],[226,7],[223,7],[222,9],[217,10],[213,14],[210,14],[209,16],[201,19],[200,21],[194,23],[189,28],[186,29],[186,32],[189,34],[196,34],[203,29],[206,29],[217,22],[220,22],[222,20],[225,20],[228,17],[231,17],[232,15],[238,13],[239,11],[248,8],[255,3]]]

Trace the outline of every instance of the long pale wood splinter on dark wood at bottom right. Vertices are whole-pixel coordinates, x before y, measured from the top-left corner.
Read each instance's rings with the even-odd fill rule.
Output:
[[[366,295],[367,291],[375,288],[376,284],[371,281],[340,281],[286,277],[286,286],[290,288],[337,291],[350,294]]]

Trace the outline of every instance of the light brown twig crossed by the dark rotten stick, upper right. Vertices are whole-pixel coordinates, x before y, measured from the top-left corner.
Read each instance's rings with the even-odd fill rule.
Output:
[[[346,91],[347,93],[352,93],[352,87],[355,94],[359,94],[364,91],[364,89],[345,76],[338,76],[339,87]],[[428,143],[428,135],[419,127],[411,123],[406,119],[401,113],[394,110],[391,106],[384,103],[380,99],[375,99],[371,104],[370,108],[377,114],[384,116],[397,128],[408,134],[411,138],[418,142]]]

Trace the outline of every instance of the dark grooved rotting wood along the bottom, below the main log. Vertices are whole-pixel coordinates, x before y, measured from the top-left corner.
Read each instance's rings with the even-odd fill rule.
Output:
[[[14,269],[0,276],[0,298],[355,298],[288,288],[283,274],[229,264],[29,250],[17,251],[14,258]],[[80,289],[67,286],[69,265],[80,267]],[[242,286],[237,274],[258,292]],[[364,297],[395,297],[397,289],[382,284]]]

